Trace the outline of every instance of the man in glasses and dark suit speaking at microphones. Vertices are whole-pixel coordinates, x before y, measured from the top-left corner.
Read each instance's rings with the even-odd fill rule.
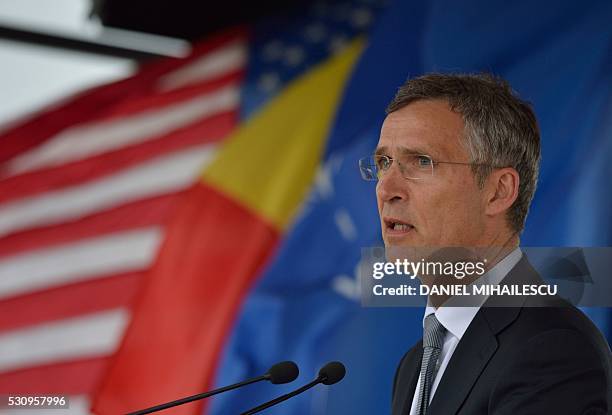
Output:
[[[385,246],[499,247],[489,282],[541,281],[518,248],[540,161],[530,106],[488,75],[431,74],[407,81],[387,114],[360,161],[378,180]],[[610,349],[579,310],[494,301],[429,298],[424,340],[397,368],[394,415],[612,413]]]

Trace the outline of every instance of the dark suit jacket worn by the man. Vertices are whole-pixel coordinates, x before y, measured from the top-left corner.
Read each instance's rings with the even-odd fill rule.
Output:
[[[502,284],[538,282],[523,257]],[[591,321],[560,299],[514,297],[502,300],[516,301],[513,307],[490,306],[499,299],[490,297],[472,320],[427,414],[612,414],[610,349]],[[421,340],[400,361],[393,415],[410,411],[422,355]]]

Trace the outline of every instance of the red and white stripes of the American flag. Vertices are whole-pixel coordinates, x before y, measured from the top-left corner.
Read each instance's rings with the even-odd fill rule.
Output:
[[[245,64],[242,34],[220,37],[0,136],[0,393],[89,412],[174,206],[236,124]]]

